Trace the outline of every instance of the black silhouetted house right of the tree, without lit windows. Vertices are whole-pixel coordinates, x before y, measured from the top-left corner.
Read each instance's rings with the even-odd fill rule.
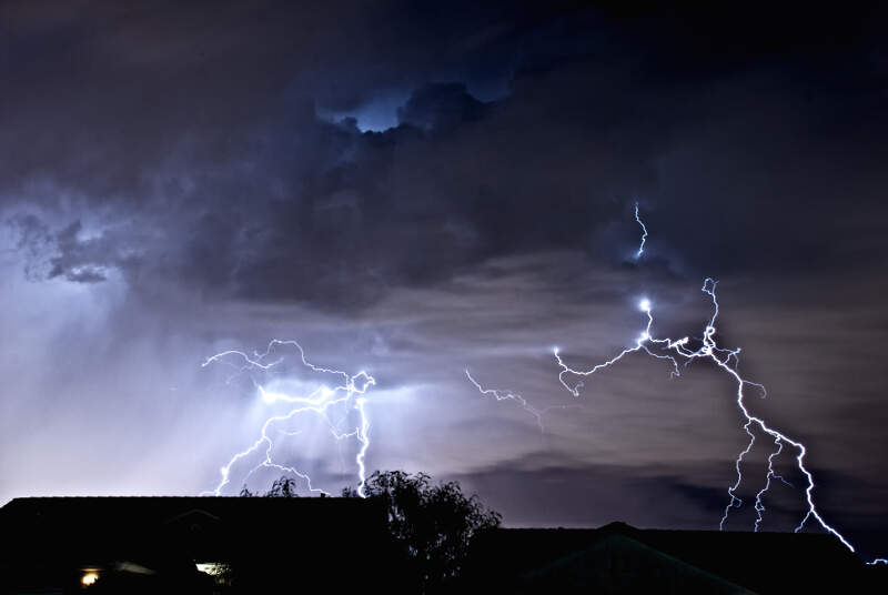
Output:
[[[886,568],[813,533],[496,530],[465,584],[500,593],[882,593]]]

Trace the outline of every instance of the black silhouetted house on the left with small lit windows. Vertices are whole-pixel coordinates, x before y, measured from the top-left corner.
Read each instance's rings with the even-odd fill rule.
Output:
[[[360,498],[16,498],[0,536],[2,593],[224,592],[214,563],[245,592],[356,592],[397,559]]]

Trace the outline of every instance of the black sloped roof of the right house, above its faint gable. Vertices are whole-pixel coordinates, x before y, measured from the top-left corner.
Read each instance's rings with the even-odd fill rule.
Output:
[[[654,556],[652,551],[664,557]],[[543,574],[557,571],[555,574],[561,573],[562,578],[572,573],[582,576],[586,571],[569,567],[591,565],[591,572],[595,559],[608,556],[612,562],[623,559],[620,564],[635,559],[649,565],[652,572],[670,565],[675,575],[696,568],[756,593],[845,591],[875,576],[857,556],[826,534],[638,530],[625,523],[597,530],[493,531],[476,543],[467,573],[480,583],[492,584],[497,575],[508,576],[513,581],[509,588],[533,593],[536,589],[532,585]],[[584,591],[582,581],[573,586],[564,584],[561,589]],[[609,592],[624,591],[614,587]]]

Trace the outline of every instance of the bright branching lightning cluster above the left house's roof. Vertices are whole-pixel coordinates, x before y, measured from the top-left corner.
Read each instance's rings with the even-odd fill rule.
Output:
[[[235,463],[245,460],[255,453],[261,453],[261,455],[264,455],[262,461],[244,475],[242,478],[244,483],[253,473],[261,468],[274,468],[281,471],[282,473],[292,473],[293,475],[302,478],[307,485],[309,491],[312,493],[329,495],[329,492],[312,485],[312,480],[307,473],[300,471],[294,466],[279,463],[273,456],[275,442],[274,435],[270,432],[271,428],[278,424],[286,422],[287,420],[292,420],[300,414],[314,413],[327,426],[334,438],[337,441],[355,438],[360,444],[357,454],[355,455],[355,464],[357,465],[357,494],[361,497],[364,497],[364,483],[366,480],[364,460],[366,457],[367,448],[370,447],[370,420],[367,418],[366,414],[366,397],[364,396],[364,393],[366,393],[367,389],[376,384],[376,381],[373,379],[373,376],[363,370],[356,374],[349,374],[347,372],[340,370],[332,370],[329,367],[314,365],[305,359],[305,351],[297,342],[281,341],[276,339],[269,343],[269,346],[264,353],[254,353],[252,356],[250,356],[242,351],[223,351],[211,357],[208,357],[203,363],[203,366],[205,367],[212,363],[225,361],[230,365],[233,365],[235,369],[238,369],[239,372],[245,372],[249,370],[269,371],[283,362],[282,356],[270,360],[272,352],[276,351],[279,347],[294,347],[299,353],[299,362],[302,364],[302,366],[311,372],[332,375],[334,377],[337,376],[341,380],[332,387],[326,384],[320,384],[316,389],[305,395],[291,395],[287,393],[273,391],[266,389],[262,384],[258,384],[256,387],[259,396],[261,396],[264,403],[269,405],[274,403],[289,403],[292,404],[292,407],[283,414],[272,415],[265,420],[265,422],[262,424],[259,438],[256,438],[256,441],[250,447],[233,455],[221,468],[222,478],[219,485],[216,485],[215,490],[211,493],[218,496],[222,493],[222,490],[225,486],[231,484],[231,468]],[[232,363],[230,360],[234,360],[236,364]],[[331,420],[329,415],[334,406],[341,406],[346,411],[346,414],[343,415],[341,420],[335,422]],[[345,424],[346,420],[349,418],[347,413],[352,411],[356,412],[357,414],[357,423],[353,426],[343,428],[343,424]],[[283,435],[292,434],[285,431],[280,433]]]

